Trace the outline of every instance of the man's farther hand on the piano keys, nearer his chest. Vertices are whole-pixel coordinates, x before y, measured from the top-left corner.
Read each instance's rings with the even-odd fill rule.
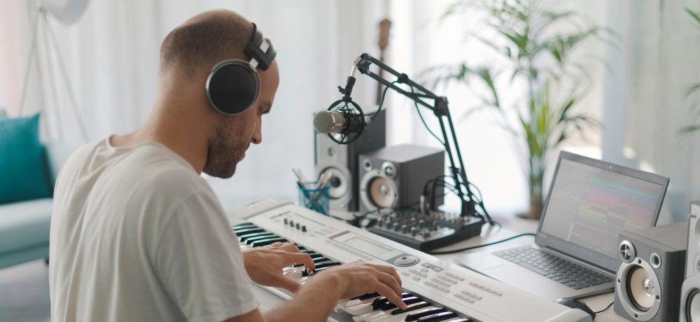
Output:
[[[300,284],[282,274],[282,269],[293,264],[304,264],[307,272],[316,268],[311,256],[300,253],[290,243],[274,243],[267,247],[253,248],[243,252],[243,261],[251,279],[263,286],[281,287],[297,293]]]

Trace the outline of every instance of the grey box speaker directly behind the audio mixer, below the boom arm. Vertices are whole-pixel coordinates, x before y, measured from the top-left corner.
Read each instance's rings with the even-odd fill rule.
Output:
[[[361,213],[417,206],[426,182],[444,175],[444,151],[426,146],[389,146],[360,155],[359,162]]]

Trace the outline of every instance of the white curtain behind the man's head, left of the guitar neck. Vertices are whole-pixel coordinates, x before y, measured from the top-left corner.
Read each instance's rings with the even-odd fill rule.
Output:
[[[353,58],[365,48],[376,47],[378,1],[94,0],[73,25],[64,26],[49,17],[89,140],[129,132],[144,122],[155,98],[162,38],[184,20],[214,8],[235,10],[258,24],[277,49],[281,83],[272,113],[263,121],[263,144],[251,146],[232,179],[207,180],[225,207],[265,196],[294,200],[290,169],[299,167],[307,177],[313,176],[312,113],[339,97],[336,86],[345,82]],[[10,116],[19,113],[30,20],[35,14],[31,1],[0,3],[0,106]],[[41,73],[34,64],[22,114],[43,109],[48,121],[42,126],[46,139],[81,141],[58,61],[53,55],[48,62],[45,59],[45,34],[40,30],[38,38]],[[56,97],[48,69],[54,71]],[[358,87],[358,97],[372,94],[365,87],[369,86]],[[57,106],[59,113],[55,113]],[[63,133],[58,132],[57,123]]]

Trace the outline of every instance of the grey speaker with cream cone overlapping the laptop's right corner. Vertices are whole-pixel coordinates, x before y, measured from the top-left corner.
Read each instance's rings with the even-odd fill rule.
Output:
[[[632,321],[678,320],[687,223],[619,234],[615,312]]]

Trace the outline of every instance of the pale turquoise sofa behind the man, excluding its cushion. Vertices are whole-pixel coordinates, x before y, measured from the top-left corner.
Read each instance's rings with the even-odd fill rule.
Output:
[[[52,186],[76,144],[44,144]],[[52,187],[51,187],[52,188]],[[52,198],[0,204],[0,269],[31,260],[48,260]]]

